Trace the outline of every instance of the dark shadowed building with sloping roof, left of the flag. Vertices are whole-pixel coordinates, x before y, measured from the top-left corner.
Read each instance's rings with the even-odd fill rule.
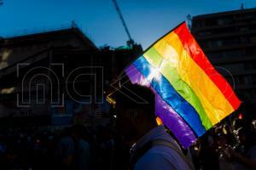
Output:
[[[142,48],[97,48],[75,25],[0,39],[0,124],[101,121],[105,92]]]

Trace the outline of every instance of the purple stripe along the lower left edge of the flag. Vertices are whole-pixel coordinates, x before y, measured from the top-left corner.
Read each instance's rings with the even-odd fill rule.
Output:
[[[172,107],[161,99],[160,95],[157,94],[154,88],[151,87],[150,83],[145,77],[137,70],[134,65],[130,65],[126,70],[126,75],[130,78],[131,83],[137,83],[142,86],[150,88],[155,94],[155,114],[160,117],[162,122],[168,127],[172,133],[177,137],[180,144],[184,148],[188,148],[192,143],[195,142],[195,134],[184,122],[183,118],[177,114]]]

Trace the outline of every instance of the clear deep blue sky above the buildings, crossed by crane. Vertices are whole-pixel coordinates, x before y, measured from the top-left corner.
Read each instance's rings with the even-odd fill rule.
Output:
[[[67,26],[72,20],[97,46],[125,45],[128,37],[111,0],[3,0],[0,36]],[[255,8],[255,0],[117,0],[135,42],[147,48],[186,15]]]

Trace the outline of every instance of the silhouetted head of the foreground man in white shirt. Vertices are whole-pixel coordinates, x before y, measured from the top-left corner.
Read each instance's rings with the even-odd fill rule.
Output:
[[[157,126],[154,93],[137,84],[121,88],[116,96],[117,129],[125,141],[133,144]]]

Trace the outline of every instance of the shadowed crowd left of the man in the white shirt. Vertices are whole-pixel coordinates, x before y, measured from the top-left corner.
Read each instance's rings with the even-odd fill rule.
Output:
[[[113,156],[108,127],[5,127],[0,169],[105,169]],[[108,161],[108,162],[107,162]]]

